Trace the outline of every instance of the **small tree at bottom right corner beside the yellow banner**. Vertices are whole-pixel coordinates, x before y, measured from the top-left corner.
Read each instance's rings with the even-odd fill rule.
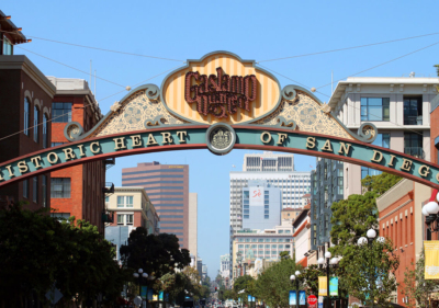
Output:
[[[431,294],[437,290],[439,281],[425,280],[425,255],[424,251],[419,260],[415,264],[412,263],[414,269],[406,267],[404,272],[404,288],[403,294],[408,297],[406,304],[409,308],[420,307],[428,308]]]

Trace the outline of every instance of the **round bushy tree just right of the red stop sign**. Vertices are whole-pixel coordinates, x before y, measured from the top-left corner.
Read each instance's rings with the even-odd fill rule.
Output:
[[[373,240],[369,244],[352,246],[351,249],[351,262],[342,264],[344,286],[365,306],[372,306],[373,303],[382,307],[390,306],[389,298],[397,288],[395,273],[399,265],[393,243],[389,239],[383,242]]]

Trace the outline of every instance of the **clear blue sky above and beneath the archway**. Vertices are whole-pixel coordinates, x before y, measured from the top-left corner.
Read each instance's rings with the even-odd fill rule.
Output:
[[[438,1],[4,1],[0,8],[33,38],[22,47],[68,66],[93,70],[104,79],[134,85],[178,62],[112,54],[50,43],[32,36],[126,53],[192,59],[228,50],[257,61],[357,46],[439,32]],[[439,35],[262,64],[307,87],[320,87],[439,42]],[[436,76],[439,45],[360,76]],[[34,54],[25,54],[47,76],[83,78],[82,73]],[[161,75],[145,83],[160,85]],[[292,81],[277,76],[282,87]],[[125,93],[98,80],[103,113]],[[330,95],[330,85],[320,89]],[[327,96],[317,94],[322,101]],[[199,254],[214,277],[219,255],[228,252],[228,172],[241,170],[245,151],[216,157],[207,150],[126,157],[109,170],[108,181],[121,185],[121,169],[137,162],[188,163],[190,191],[199,193]],[[236,168],[233,169],[232,164]],[[312,157],[295,158],[296,170],[315,166]]]

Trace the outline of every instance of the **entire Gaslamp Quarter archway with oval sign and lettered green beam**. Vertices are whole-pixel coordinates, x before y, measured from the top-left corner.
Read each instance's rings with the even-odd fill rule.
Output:
[[[0,164],[0,186],[41,173],[128,155],[205,149],[284,151],[379,169],[439,189],[439,166],[371,145],[364,123],[349,130],[313,93],[281,89],[270,72],[227,52],[207,54],[168,75],[161,87],[134,89],[86,134],[65,127],[69,144]]]

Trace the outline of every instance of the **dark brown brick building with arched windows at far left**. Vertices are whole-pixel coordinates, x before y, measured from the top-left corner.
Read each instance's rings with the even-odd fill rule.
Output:
[[[13,47],[27,43],[27,38],[2,11],[0,28],[0,109],[4,113],[0,162],[4,162],[49,147],[48,123],[56,89],[26,56],[14,55]],[[50,176],[43,174],[10,184],[0,190],[0,196],[27,202],[25,207],[30,209],[50,207]]]

